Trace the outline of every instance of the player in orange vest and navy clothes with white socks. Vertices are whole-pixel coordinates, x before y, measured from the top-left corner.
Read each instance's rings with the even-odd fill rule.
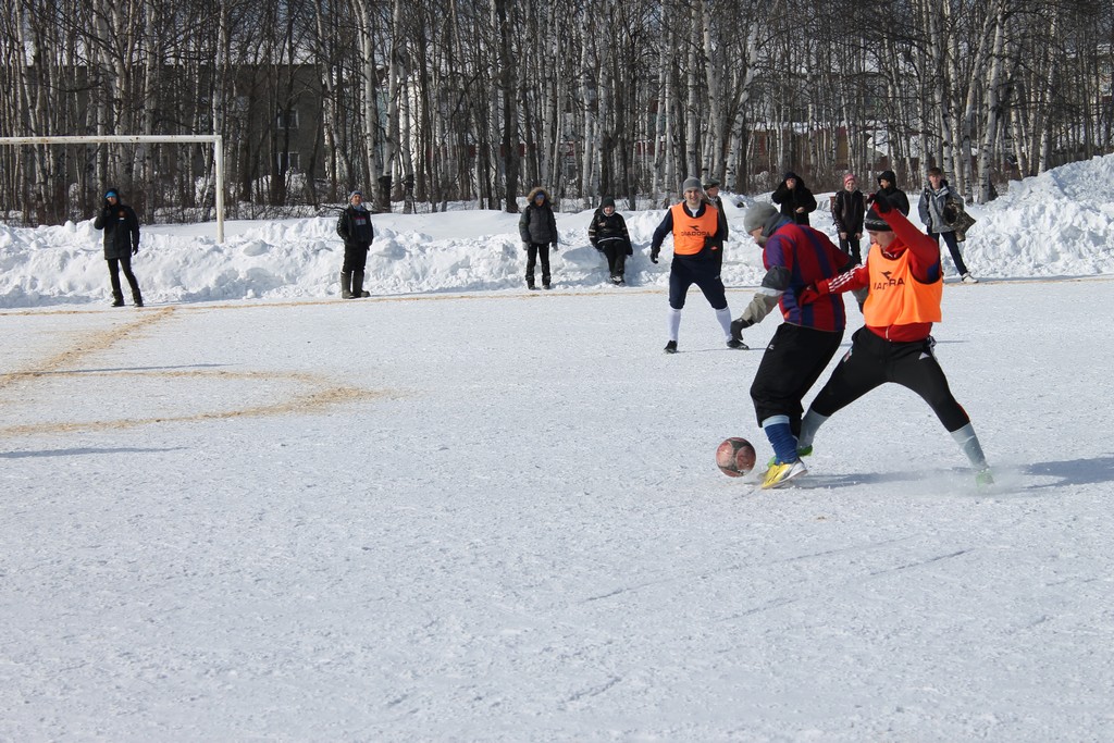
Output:
[[[723,336],[729,349],[745,349],[742,341],[731,336],[731,309],[727,294],[720,278],[717,255],[723,250],[723,231],[720,212],[704,199],[700,178],[686,178],[681,186],[685,199],[665,213],[662,224],[654,231],[649,260],[657,263],[665,236],[673,234],[673,263],[670,265],[670,314],[666,353],[677,352],[677,334],[681,330],[681,310],[685,306],[685,295],[693,284],[704,292],[709,304],[715,310]]]

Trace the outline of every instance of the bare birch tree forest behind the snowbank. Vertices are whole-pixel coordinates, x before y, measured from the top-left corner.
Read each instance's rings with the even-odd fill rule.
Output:
[[[0,137],[217,134],[229,216],[995,184],[1112,151],[1110,0],[9,0]],[[290,153],[299,149],[297,156]],[[206,218],[205,145],[6,145],[0,218]],[[285,212],[284,212],[285,211]]]

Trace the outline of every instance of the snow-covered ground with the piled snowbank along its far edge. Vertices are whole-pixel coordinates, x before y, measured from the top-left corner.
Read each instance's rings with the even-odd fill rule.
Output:
[[[0,226],[0,740],[1114,740],[1112,167],[971,209],[989,492],[889,388],[723,477],[761,350],[693,294],[663,354],[667,261],[605,286],[588,214],[545,294],[514,216],[377,216],[360,302],[331,221],[152,227],[144,310],[89,223]]]

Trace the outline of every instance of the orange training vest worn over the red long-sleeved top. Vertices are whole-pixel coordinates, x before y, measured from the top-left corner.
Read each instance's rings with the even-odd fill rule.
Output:
[[[917,281],[909,270],[909,251],[896,258],[882,255],[877,244],[867,258],[870,294],[862,305],[862,319],[871,327],[940,322],[944,277],[931,284]]]

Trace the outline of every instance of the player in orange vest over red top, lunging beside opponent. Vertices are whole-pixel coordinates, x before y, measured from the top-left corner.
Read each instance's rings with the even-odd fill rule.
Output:
[[[970,417],[951,390],[932,350],[932,323],[940,321],[944,267],[939,245],[917,229],[882,194],[871,197],[866,228],[870,234],[867,264],[819,282],[815,295],[867,287],[862,306],[866,325],[852,336],[831,379],[801,421],[798,449],[811,451],[812,439],[836,411],[887,382],[919,394],[975,468],[979,487],[994,483]],[[802,301],[805,301],[802,296]]]

